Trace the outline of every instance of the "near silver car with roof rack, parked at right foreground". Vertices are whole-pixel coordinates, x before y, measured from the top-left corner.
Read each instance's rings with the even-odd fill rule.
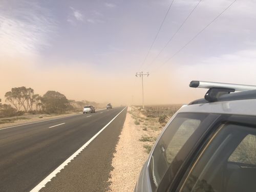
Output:
[[[166,124],[135,192],[256,191],[256,87],[205,81],[189,86],[209,90]]]

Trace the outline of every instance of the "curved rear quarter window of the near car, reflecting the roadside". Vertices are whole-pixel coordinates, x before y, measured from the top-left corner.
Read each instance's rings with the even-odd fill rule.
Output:
[[[157,188],[168,167],[189,137],[197,130],[206,114],[177,115],[166,127],[156,144],[150,161],[150,173],[153,188]]]

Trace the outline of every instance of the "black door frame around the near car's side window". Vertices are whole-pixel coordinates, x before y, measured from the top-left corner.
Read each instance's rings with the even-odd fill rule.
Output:
[[[256,127],[256,117],[255,116],[245,116],[245,115],[228,115],[219,114],[219,118],[216,119],[209,129],[208,133],[201,140],[201,144],[198,146],[197,150],[187,158],[187,162],[183,164],[180,169],[180,173],[177,174],[176,180],[169,184],[166,191],[180,191],[184,185],[186,178],[192,171],[193,167],[196,165],[203,151],[207,148],[208,143],[214,136],[221,130],[221,125],[225,124],[236,124],[241,126]],[[179,175],[179,176],[178,176]]]

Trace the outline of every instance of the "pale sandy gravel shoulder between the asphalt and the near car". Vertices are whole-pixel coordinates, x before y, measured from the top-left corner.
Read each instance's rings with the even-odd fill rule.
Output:
[[[146,118],[138,109],[128,108],[112,160],[109,191],[134,191],[140,170],[161,130],[156,118]]]

